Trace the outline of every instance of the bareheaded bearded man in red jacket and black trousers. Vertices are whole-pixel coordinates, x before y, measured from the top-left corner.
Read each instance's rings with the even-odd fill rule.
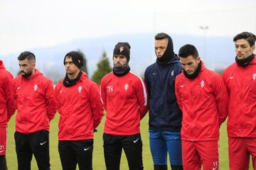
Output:
[[[36,57],[32,52],[21,52],[18,65],[20,75],[14,79],[18,170],[31,169],[32,155],[39,170],[48,170],[49,123],[56,113],[53,83],[35,68]]]

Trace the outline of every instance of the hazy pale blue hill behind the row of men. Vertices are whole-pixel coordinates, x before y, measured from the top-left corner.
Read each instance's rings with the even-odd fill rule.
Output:
[[[203,36],[199,35],[171,35],[174,41],[174,52],[185,44],[193,44],[197,47],[199,55],[206,66],[213,70],[228,67],[234,62],[235,48],[232,37],[206,37],[204,45]],[[112,64],[112,51],[119,41],[127,41],[131,45],[131,60],[129,65],[133,72],[143,75],[144,70],[152,64],[156,57],[154,54],[154,34],[140,33],[129,35],[111,35],[102,38],[85,38],[73,40],[52,47],[35,47],[27,49],[36,55],[36,67],[53,81],[58,81],[64,74],[63,57],[71,50],[82,50],[87,59],[89,77],[95,72],[96,64],[102,57],[102,52],[107,52],[107,57]],[[1,56],[6,68],[16,77],[18,72],[17,57],[20,52],[14,52],[7,56]]]

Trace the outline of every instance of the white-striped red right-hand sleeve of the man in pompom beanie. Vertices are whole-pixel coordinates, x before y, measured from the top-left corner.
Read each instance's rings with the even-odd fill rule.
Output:
[[[139,77],[139,81],[137,81],[136,84],[136,94],[137,94],[137,100],[139,103],[139,114],[140,119],[144,118],[146,113],[149,111],[149,105],[148,105],[148,91],[146,89],[146,85],[142,78]]]

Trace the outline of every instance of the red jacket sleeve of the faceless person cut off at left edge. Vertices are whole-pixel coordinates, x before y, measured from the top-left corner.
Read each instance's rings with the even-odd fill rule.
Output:
[[[11,119],[11,116],[14,115],[17,107],[16,98],[14,98],[14,87],[11,74],[6,74],[5,80],[5,94],[6,94],[6,106],[7,106],[7,122]]]

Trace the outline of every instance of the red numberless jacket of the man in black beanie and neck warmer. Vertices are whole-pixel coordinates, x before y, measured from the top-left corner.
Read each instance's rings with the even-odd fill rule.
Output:
[[[87,140],[100,124],[104,108],[99,86],[82,72],[80,80],[66,87],[60,81],[55,87],[59,120],[59,140]]]

